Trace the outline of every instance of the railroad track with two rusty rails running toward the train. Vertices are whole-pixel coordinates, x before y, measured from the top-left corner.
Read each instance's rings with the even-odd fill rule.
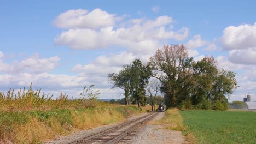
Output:
[[[153,118],[157,113],[149,113],[148,115],[121,123],[115,127],[100,131],[99,133],[83,137],[82,139],[69,142],[68,144],[75,143],[116,143],[131,134],[139,125],[147,122]]]

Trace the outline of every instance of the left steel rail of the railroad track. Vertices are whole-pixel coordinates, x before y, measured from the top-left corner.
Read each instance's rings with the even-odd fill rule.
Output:
[[[68,144],[82,143],[82,142],[84,142],[84,141],[86,141],[86,140],[89,140],[89,139],[92,139],[93,137],[96,137],[96,136],[98,136],[98,135],[100,135],[100,134],[106,133],[107,131],[116,129],[116,128],[118,128],[118,127],[123,127],[124,125],[128,125],[128,124],[130,124],[130,123],[132,123],[132,122],[136,122],[136,121],[138,121],[139,119],[143,119],[143,118],[145,118],[145,117],[148,117],[149,115],[152,115],[152,113],[149,113],[148,115],[145,115],[145,116],[142,116],[142,117],[139,117],[139,118],[136,118],[136,119],[133,119],[133,120],[131,120],[131,121],[127,121],[127,122],[121,123],[121,124],[119,124],[119,125],[116,125],[116,126],[114,126],[114,127],[112,127],[112,128],[109,128],[109,129],[106,129],[106,130],[103,130],[103,131],[100,131],[100,132],[98,132],[98,133],[95,133],[95,134],[92,134],[92,135],[83,137],[83,138],[81,138],[81,139],[79,139],[79,140],[75,140],[75,141],[72,141],[72,142],[68,142]]]

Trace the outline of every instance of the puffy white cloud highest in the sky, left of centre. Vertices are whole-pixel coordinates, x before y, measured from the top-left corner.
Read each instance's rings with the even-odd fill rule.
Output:
[[[115,25],[115,15],[109,14],[101,9],[94,9],[90,13],[88,10],[77,9],[68,10],[61,13],[54,20],[54,25],[60,28],[101,28]]]

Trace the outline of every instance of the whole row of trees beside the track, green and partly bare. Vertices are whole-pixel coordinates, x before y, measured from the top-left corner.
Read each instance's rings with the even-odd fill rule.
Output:
[[[153,105],[161,92],[167,107],[226,110],[228,97],[238,87],[235,75],[218,69],[212,56],[194,61],[184,45],[176,44],[162,46],[146,64],[135,59],[119,73],[110,73],[108,79],[112,88],[123,89],[125,104],[133,98],[138,106],[144,106],[148,96]]]

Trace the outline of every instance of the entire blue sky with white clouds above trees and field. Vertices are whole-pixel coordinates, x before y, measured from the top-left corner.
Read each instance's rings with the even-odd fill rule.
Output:
[[[253,1],[0,1],[0,88],[34,88],[76,97],[85,85],[122,98],[109,72],[146,62],[164,44],[213,55],[237,73],[230,101],[256,93]],[[254,96],[253,96],[254,97]],[[255,98],[256,100],[256,98]]]

